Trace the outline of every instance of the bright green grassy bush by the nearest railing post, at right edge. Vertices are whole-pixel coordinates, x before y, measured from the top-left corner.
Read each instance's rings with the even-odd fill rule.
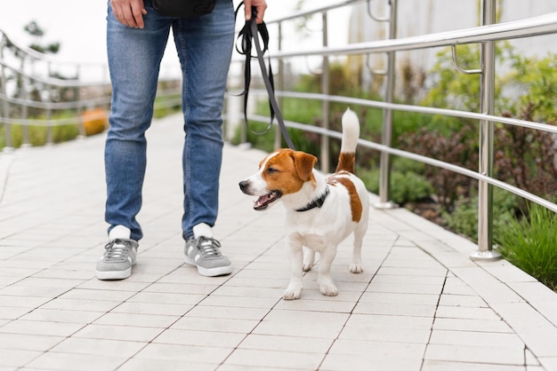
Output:
[[[537,204],[529,216],[513,218],[495,237],[506,260],[528,272],[548,288],[557,289],[557,216]]]

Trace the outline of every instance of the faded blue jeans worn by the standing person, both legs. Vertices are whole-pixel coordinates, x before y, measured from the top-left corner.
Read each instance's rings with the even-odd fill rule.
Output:
[[[112,82],[110,128],[105,146],[109,231],[124,225],[139,241],[141,188],[147,141],[153,116],[160,62],[172,28],[182,67],[182,111],[185,132],[182,168],[184,239],[199,223],[213,226],[218,212],[222,162],[222,104],[234,44],[231,0],[218,0],[214,11],[198,18],[159,15],[145,1],[145,27],[117,21],[110,4],[107,47]]]

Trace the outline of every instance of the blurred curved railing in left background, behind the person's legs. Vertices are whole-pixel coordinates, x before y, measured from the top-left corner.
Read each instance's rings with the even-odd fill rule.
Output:
[[[163,67],[157,98],[164,99],[157,100],[155,109],[181,106],[181,92],[181,75]],[[61,62],[13,43],[0,30],[0,130],[4,131],[4,152],[13,149],[14,127],[21,128],[21,146],[29,146],[31,126],[46,128],[47,144],[52,144],[52,129],[57,126],[77,125],[79,137],[83,137],[85,121],[107,119],[110,99],[106,63]],[[65,114],[57,114],[61,112]]]

